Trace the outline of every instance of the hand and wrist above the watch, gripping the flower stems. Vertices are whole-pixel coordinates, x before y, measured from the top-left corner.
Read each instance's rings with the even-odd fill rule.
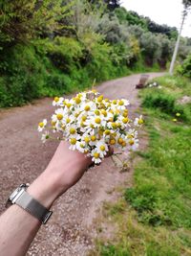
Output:
[[[112,154],[111,149],[109,154]],[[78,151],[70,151],[67,142],[60,142],[45,172],[34,180],[28,192],[44,206],[72,187],[90,167],[92,160]]]

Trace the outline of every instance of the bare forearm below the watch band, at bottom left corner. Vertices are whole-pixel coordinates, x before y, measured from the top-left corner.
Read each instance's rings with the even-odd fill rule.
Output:
[[[40,227],[40,221],[17,205],[0,217],[1,256],[25,255]]]

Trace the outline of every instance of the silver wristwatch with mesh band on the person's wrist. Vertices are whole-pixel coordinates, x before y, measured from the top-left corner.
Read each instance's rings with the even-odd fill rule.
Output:
[[[21,184],[17,189],[15,189],[10,198],[6,202],[6,207],[11,204],[17,204],[27,212],[29,212],[33,217],[41,221],[43,224],[50,219],[53,212],[49,211],[36,199],[27,192],[27,188],[30,186],[29,183]]]

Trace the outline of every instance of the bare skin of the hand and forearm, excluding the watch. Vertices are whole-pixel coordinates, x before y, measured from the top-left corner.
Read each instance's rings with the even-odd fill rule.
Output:
[[[112,150],[110,151],[112,153]],[[71,188],[92,164],[89,157],[70,151],[61,142],[46,170],[28,188],[28,193],[45,207]],[[11,205],[0,217],[1,256],[22,256],[28,251],[40,228],[40,221],[17,205]]]

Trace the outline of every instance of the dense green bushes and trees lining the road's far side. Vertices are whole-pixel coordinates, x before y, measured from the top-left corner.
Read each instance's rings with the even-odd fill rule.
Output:
[[[178,35],[118,1],[0,3],[0,107],[165,69]],[[191,49],[181,38],[179,60]]]

